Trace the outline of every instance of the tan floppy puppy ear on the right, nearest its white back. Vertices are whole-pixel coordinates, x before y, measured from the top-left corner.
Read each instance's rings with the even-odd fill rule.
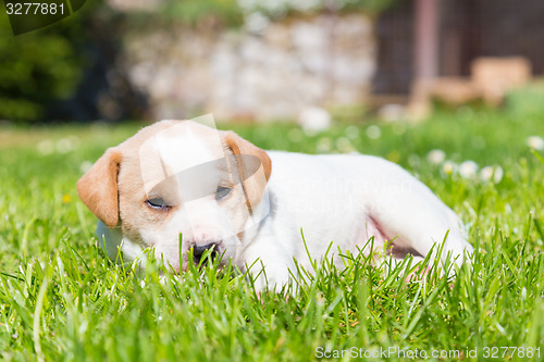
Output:
[[[272,161],[267,152],[236,135],[225,132],[226,147],[236,158],[239,178],[249,210],[259,204],[272,172]],[[256,164],[257,163],[257,164]]]

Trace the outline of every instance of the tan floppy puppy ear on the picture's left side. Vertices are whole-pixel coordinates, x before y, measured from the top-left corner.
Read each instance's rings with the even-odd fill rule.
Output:
[[[109,227],[118,225],[118,172],[122,154],[110,148],[77,182],[82,201]]]

